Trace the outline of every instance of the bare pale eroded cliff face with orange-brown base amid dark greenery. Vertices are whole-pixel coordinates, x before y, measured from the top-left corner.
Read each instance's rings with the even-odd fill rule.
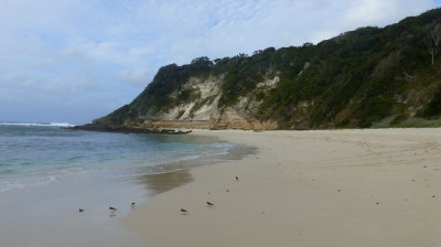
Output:
[[[255,116],[260,101],[256,98],[257,92],[267,92],[273,88],[279,77],[265,79],[257,89],[227,107],[219,108],[222,98],[220,85],[224,76],[207,78],[191,77],[181,88],[169,97],[176,98],[185,89],[194,95],[191,99],[161,110],[153,116],[141,116],[135,121],[127,121],[125,126],[139,128],[207,128],[207,129],[277,129],[276,121],[259,121]]]

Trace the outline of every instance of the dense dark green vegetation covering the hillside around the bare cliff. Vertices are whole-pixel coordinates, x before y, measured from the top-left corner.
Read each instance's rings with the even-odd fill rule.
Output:
[[[97,121],[120,124],[154,117],[198,97],[181,90],[192,76],[224,75],[219,108],[254,95],[256,117],[277,120],[281,128],[370,127],[435,119],[441,115],[441,9],[407,18],[385,28],[367,26],[319,44],[305,43],[252,55],[211,61],[200,57],[159,69],[153,82],[129,105]],[[433,58],[433,61],[432,61]],[[257,84],[278,76],[275,88]],[[170,97],[179,92],[178,97]]]

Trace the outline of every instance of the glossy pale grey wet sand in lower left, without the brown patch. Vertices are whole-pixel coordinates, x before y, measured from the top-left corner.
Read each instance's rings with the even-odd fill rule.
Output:
[[[137,181],[75,178],[0,196],[0,246],[77,247],[146,246],[120,227],[133,198],[148,197]],[[139,201],[138,201],[139,200]],[[109,206],[118,208],[110,212]],[[78,210],[84,208],[83,213]]]

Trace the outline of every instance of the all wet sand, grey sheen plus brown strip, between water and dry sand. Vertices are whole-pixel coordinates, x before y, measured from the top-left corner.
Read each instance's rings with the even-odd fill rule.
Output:
[[[200,143],[218,141],[213,137],[192,138]],[[239,148],[237,151],[235,155],[201,157],[159,167],[139,164],[138,174],[132,175],[86,173],[41,187],[0,193],[0,246],[143,247],[146,240],[121,227],[119,221],[151,196],[191,182],[189,168],[217,159],[240,158],[241,151],[252,150]],[[117,211],[109,211],[109,206]]]

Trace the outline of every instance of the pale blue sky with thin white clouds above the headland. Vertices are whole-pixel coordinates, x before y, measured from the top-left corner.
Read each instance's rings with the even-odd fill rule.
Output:
[[[158,68],[318,43],[440,0],[0,0],[0,121],[86,124]]]

